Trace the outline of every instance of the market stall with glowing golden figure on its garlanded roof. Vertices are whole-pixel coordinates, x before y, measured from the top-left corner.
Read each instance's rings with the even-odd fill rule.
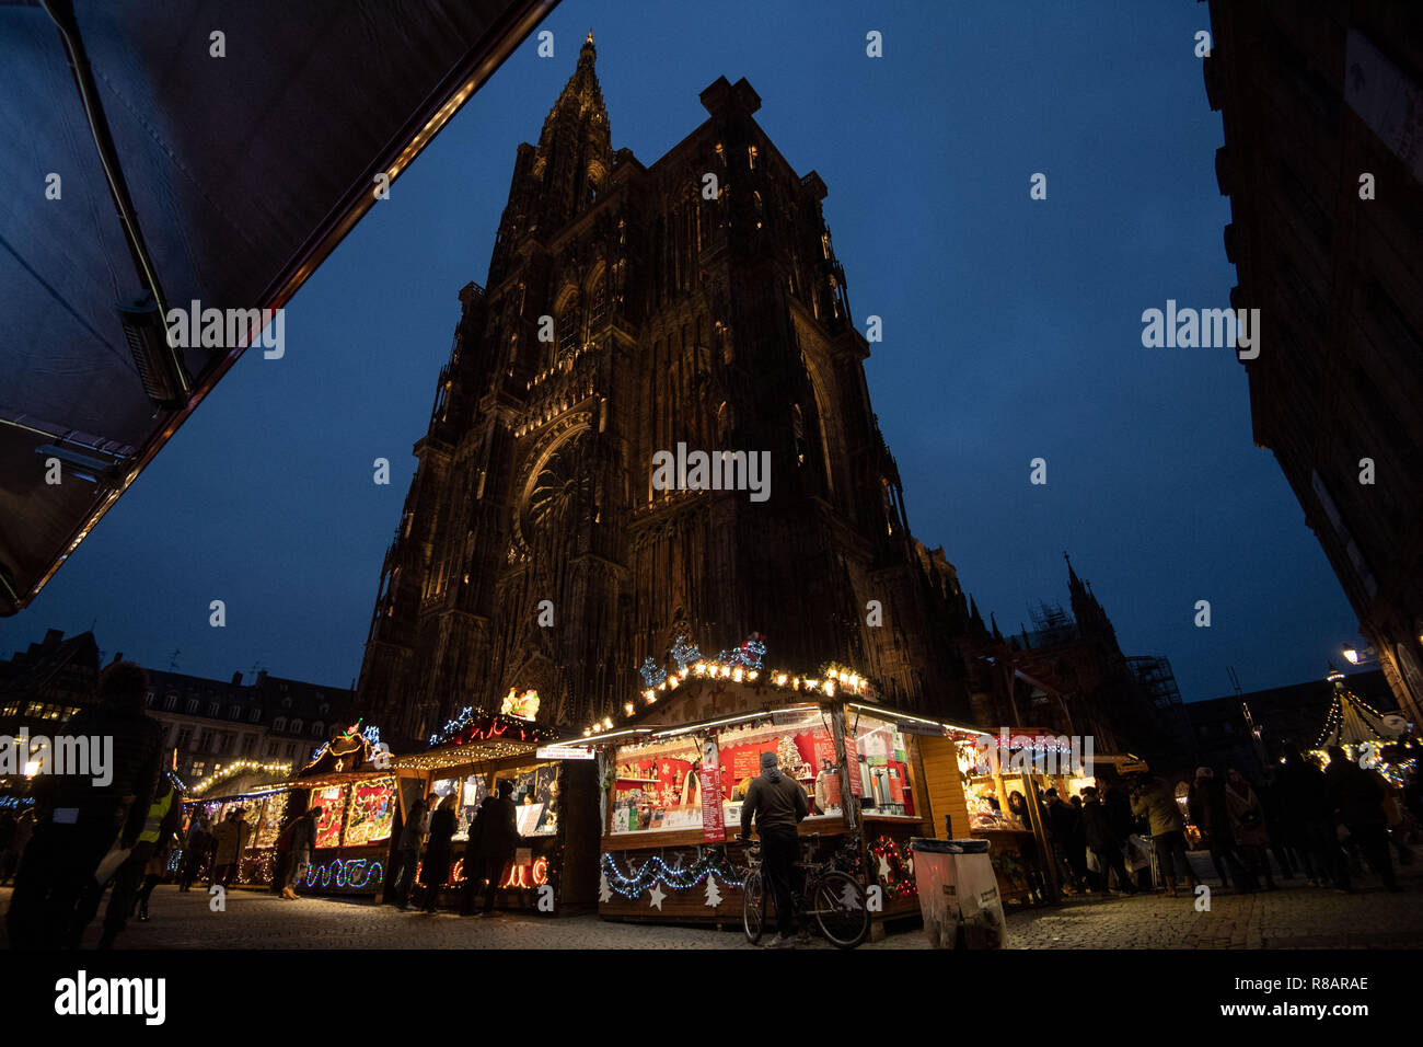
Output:
[[[455,798],[454,860],[440,885],[444,906],[460,905],[465,866],[475,866],[467,853],[470,826],[501,781],[514,786],[521,846],[501,873],[495,905],[555,913],[592,902],[596,826],[588,815],[598,801],[591,754],[551,748],[556,732],[536,715],[536,694],[511,694],[498,714],[467,708],[430,739],[428,751],[391,761],[413,785],[400,793],[401,821],[420,796],[433,796],[433,803]],[[423,866],[418,876],[425,885]]]

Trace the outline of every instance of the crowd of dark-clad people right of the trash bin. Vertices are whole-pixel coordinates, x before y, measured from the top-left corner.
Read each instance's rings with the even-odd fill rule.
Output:
[[[1397,789],[1339,746],[1328,756],[1321,768],[1286,746],[1268,785],[1249,782],[1237,768],[1218,776],[1202,766],[1184,789],[1150,775],[1104,791],[1089,786],[1067,801],[1057,789],[1044,789],[1037,821],[1049,842],[1047,860],[1066,895],[1150,889],[1153,858],[1168,896],[1178,896],[1183,882],[1194,893],[1201,880],[1188,858],[1191,843],[1210,853],[1220,887],[1234,892],[1276,890],[1278,875],[1352,893],[1363,866],[1386,889],[1400,890],[1395,859],[1413,863],[1409,845],[1423,823],[1417,785]],[[1032,826],[1022,792],[1012,792],[1007,803],[1010,815]],[[1027,846],[1025,860],[1029,897],[1044,900],[1044,869],[1035,846]]]

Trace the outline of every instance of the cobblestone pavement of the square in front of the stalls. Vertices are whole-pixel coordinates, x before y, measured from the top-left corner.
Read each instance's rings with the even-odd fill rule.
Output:
[[[1405,890],[1392,895],[1369,877],[1358,893],[1285,880],[1276,892],[1211,893],[1210,912],[1195,899],[1086,896],[1056,909],[1010,912],[1015,949],[1363,949],[1423,947],[1423,866],[1400,870]],[[0,912],[10,890],[0,890]],[[152,919],[129,923],[120,949],[750,949],[740,929],[662,927],[610,923],[593,915],[558,919],[498,915],[401,913],[369,902],[306,897],[283,902],[268,892],[236,889],[226,912],[208,909],[206,895],[176,887],[154,892]],[[100,916],[100,920],[102,916]],[[98,940],[98,923],[85,946]],[[828,949],[817,940],[808,947]],[[865,949],[925,949],[914,923]]]

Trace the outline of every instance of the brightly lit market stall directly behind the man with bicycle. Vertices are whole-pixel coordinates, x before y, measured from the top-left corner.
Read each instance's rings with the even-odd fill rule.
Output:
[[[734,839],[764,751],[805,789],[807,856],[838,856],[865,882],[875,920],[919,912],[909,838],[932,835],[941,806],[959,825],[966,815],[962,792],[956,812],[948,791],[935,798],[916,732],[966,729],[875,702],[854,671],[768,671],[763,654],[743,645],[702,660],[693,648],[670,672],[645,665],[647,687],[622,724],[591,725],[568,742],[598,754],[603,917],[740,920],[744,849]]]

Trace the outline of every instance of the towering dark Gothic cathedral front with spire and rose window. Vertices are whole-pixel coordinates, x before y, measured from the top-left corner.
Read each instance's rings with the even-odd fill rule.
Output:
[[[679,641],[758,632],[768,665],[837,662],[881,701],[968,715],[969,614],[909,533],[825,184],[746,80],[707,87],[709,118],[652,165],[613,150],[595,61],[589,34],[518,148],[487,285],[460,291],[361,708],[425,736],[536,691],[541,722],[582,728]],[[764,490],[734,469],[656,483],[667,456],[686,480],[686,449],[764,462]]]

